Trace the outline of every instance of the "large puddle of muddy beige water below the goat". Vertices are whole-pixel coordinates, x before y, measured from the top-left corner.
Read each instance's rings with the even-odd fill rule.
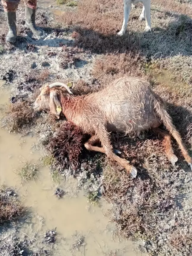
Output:
[[[9,89],[0,86],[1,116],[2,109],[6,107],[9,99]],[[43,235],[47,230],[57,230],[60,238],[54,248],[54,255],[107,255],[110,251],[116,255],[136,256],[136,246],[115,235],[115,227],[109,222],[110,213],[108,205],[100,200],[97,206],[87,202],[86,192],[76,189],[76,180],[71,179],[61,184],[65,191],[63,198],[54,195],[57,185],[53,183],[49,169],[39,168],[38,179],[28,183],[21,182],[16,169],[23,161],[39,162],[41,150],[38,141],[30,136],[20,137],[0,129],[0,183],[8,187],[15,187],[20,201],[27,207],[28,213],[33,216],[29,223],[24,223],[20,229],[29,237],[34,237],[38,247],[42,247]],[[84,237],[84,246],[79,251],[72,249],[74,243],[72,235],[81,234]],[[49,246],[45,246],[49,249]]]

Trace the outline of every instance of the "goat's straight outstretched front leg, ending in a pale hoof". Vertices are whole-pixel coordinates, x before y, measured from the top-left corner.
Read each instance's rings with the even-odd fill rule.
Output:
[[[137,169],[134,166],[130,165],[127,160],[120,158],[116,154],[114,154],[109,134],[107,132],[105,125],[99,124],[97,126],[97,137],[100,138],[105,154],[109,158],[115,160],[117,163],[123,166],[127,170],[127,172],[129,174],[132,174],[132,176],[135,178],[137,176]]]

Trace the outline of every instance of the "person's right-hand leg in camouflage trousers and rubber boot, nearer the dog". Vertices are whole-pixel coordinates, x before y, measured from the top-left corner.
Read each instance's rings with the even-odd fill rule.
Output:
[[[37,6],[37,0],[24,0],[25,5],[25,25],[31,29],[34,35],[43,35],[42,31],[38,30],[35,25],[35,12]]]

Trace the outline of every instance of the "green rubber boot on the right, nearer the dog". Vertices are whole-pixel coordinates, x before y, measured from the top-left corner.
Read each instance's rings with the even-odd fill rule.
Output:
[[[27,6],[25,6],[25,25],[31,29],[34,35],[41,36],[43,35],[43,32],[38,30],[35,25],[35,11]]]

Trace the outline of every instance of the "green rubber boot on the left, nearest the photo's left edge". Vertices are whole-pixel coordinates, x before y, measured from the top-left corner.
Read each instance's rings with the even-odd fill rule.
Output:
[[[17,27],[16,27],[16,13],[6,13],[5,16],[7,17],[7,25],[9,28],[9,32],[6,36],[6,42],[14,43],[17,38]]]

